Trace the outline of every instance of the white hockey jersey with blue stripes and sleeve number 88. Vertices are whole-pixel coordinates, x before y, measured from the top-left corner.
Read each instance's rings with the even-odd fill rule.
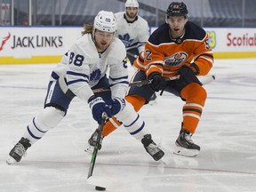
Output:
[[[52,72],[52,78],[67,78],[68,88],[81,100],[93,95],[92,86],[99,83],[109,69],[112,98],[124,98],[128,88],[128,69],[124,44],[115,38],[103,53],[98,53],[91,34],[80,37]],[[55,76],[54,76],[55,75]]]

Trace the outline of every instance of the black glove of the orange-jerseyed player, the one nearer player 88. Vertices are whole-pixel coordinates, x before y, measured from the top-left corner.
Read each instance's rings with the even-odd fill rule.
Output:
[[[164,76],[161,76],[158,72],[153,72],[148,76],[148,80],[151,81],[149,86],[152,90],[155,92],[159,92],[160,90],[163,90],[166,84],[166,81],[164,79]]]

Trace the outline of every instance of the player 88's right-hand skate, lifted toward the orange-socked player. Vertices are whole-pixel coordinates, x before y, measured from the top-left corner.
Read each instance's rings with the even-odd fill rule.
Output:
[[[164,156],[164,151],[156,146],[156,143],[151,139],[151,134],[144,135],[141,142],[148,154],[152,156],[155,161],[158,161]]]

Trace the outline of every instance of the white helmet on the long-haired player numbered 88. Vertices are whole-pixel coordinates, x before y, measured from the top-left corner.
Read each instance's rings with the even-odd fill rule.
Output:
[[[100,11],[94,19],[93,28],[100,31],[115,32],[116,17],[113,12]]]

